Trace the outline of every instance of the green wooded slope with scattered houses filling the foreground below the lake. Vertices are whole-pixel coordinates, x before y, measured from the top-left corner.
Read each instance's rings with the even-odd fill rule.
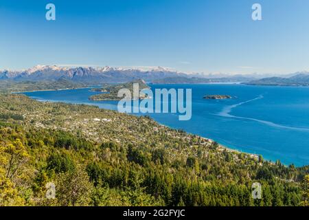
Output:
[[[147,117],[0,95],[0,206],[308,206],[308,170]]]

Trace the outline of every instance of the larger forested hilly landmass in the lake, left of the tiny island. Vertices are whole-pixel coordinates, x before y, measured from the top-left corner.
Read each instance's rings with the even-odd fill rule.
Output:
[[[118,97],[118,91],[120,89],[129,89],[131,98],[133,98],[133,84],[139,85],[139,99],[147,98],[146,94],[141,92],[142,89],[149,89],[148,85],[145,83],[144,80],[134,80],[129,83],[119,83],[115,85],[107,85],[102,87],[102,89],[94,88],[92,91],[101,91],[102,94],[90,96],[89,100],[94,101],[102,101],[102,100],[121,100],[124,97]]]

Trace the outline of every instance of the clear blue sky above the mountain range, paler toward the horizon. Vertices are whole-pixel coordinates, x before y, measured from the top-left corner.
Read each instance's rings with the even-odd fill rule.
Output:
[[[56,5],[56,21],[45,5]],[[262,21],[251,19],[253,3]],[[309,70],[308,0],[0,0],[0,69],[163,66],[185,72]]]

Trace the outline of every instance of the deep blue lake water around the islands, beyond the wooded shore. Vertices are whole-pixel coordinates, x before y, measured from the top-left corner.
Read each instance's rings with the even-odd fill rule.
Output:
[[[248,85],[151,85],[156,88],[192,89],[192,119],[179,121],[177,113],[150,117],[174,129],[216,140],[229,148],[280,159],[284,164],[309,164],[309,87]],[[90,89],[24,93],[41,101],[93,104],[117,110],[116,101],[91,101]],[[205,100],[208,94],[233,96]]]

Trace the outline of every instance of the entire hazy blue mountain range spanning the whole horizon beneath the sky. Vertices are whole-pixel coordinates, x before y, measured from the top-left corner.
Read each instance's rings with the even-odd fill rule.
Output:
[[[216,77],[217,76],[217,77]],[[273,75],[274,76],[274,75]],[[37,65],[27,70],[0,70],[0,80],[14,82],[50,82],[68,80],[73,83],[102,85],[103,83],[128,83],[145,80],[147,83],[236,83],[247,85],[309,85],[309,73],[297,72],[285,77],[262,78],[262,75],[228,74],[185,74],[165,67],[123,68],[123,67],[60,67]]]

